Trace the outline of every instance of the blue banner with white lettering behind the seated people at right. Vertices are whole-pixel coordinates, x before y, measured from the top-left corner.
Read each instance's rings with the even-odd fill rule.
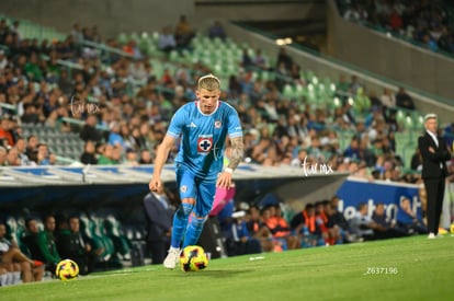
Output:
[[[410,199],[413,212],[419,219],[422,217],[421,200],[419,198],[419,186],[412,184],[364,180],[349,177],[339,188],[337,195],[340,198],[339,211],[343,212],[345,219],[351,219],[356,213],[360,202],[368,205],[368,216],[375,210],[375,205],[385,205],[386,216],[396,219],[399,202],[404,197]]]

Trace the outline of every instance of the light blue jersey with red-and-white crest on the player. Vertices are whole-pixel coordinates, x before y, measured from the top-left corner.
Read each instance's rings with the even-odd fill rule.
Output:
[[[180,107],[170,121],[167,135],[180,138],[175,160],[181,166],[203,181],[215,181],[223,170],[224,147],[227,136],[242,137],[237,111],[219,101],[209,115],[203,114],[198,102]]]

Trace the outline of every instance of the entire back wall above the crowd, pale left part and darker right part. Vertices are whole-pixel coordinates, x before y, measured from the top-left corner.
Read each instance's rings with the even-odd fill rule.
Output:
[[[61,32],[75,22],[98,25],[105,37],[121,32],[159,31],[185,14],[197,30],[214,20],[325,20],[325,1],[204,1],[204,0],[1,0],[0,13],[26,19]]]

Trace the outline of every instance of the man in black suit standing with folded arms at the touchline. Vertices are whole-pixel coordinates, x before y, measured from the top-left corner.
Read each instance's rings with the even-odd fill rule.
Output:
[[[446,142],[436,135],[438,126],[435,114],[425,115],[425,132],[418,139],[418,148],[422,155],[422,180],[424,181],[428,196],[427,218],[429,239],[436,238],[439,233],[444,185],[447,176],[445,162],[451,159]]]

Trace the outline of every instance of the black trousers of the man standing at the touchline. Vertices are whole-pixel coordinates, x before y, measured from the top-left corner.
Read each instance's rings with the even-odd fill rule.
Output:
[[[444,178],[424,178],[425,194],[428,196],[428,231],[439,233],[440,216],[443,207]]]

